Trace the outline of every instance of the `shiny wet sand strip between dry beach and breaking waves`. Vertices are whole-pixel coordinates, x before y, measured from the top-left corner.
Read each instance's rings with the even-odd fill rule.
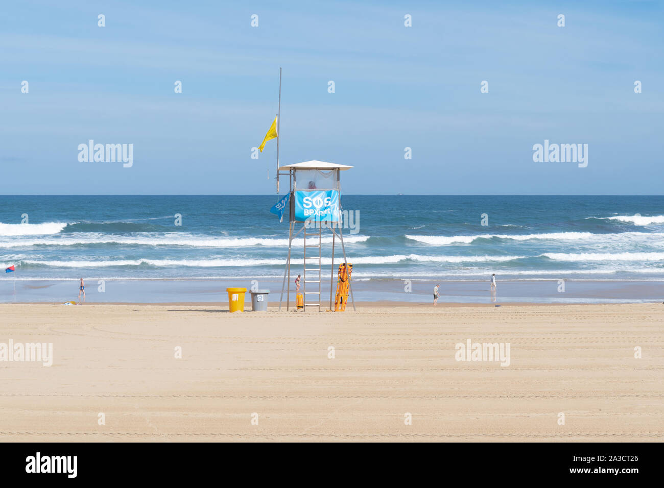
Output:
[[[408,278],[404,276],[404,280]],[[646,280],[568,280],[566,276],[546,280],[503,280],[497,293],[489,291],[489,280],[404,280],[358,278],[353,281],[356,301],[431,303],[434,285],[440,283],[444,303],[637,303],[664,301],[664,282]],[[228,303],[227,287],[250,289],[253,278],[111,280],[86,278],[86,299],[90,303]],[[258,288],[270,289],[270,302],[278,302],[282,279],[256,278]],[[13,280],[0,278],[0,301],[14,300]],[[335,278],[333,287],[336,287]],[[315,285],[315,290],[318,287]],[[323,301],[329,302],[330,284],[323,279]],[[336,289],[336,288],[335,288]],[[409,291],[406,291],[409,289]],[[286,293],[284,293],[284,297]],[[291,287],[291,300],[295,298]],[[247,294],[246,299],[249,299]],[[17,280],[16,301],[62,303],[78,300],[78,280]]]

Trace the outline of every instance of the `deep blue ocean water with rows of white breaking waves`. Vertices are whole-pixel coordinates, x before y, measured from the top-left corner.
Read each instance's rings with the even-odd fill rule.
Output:
[[[256,279],[280,289],[288,216],[280,223],[270,214],[276,200],[274,195],[2,196],[0,266],[14,264],[19,282],[83,277],[95,285],[97,280],[248,285]],[[355,228],[343,232],[357,289],[377,293],[367,292],[365,299],[379,299],[391,286],[386,283],[395,289],[403,288],[403,280],[488,283],[491,273],[499,284],[664,281],[662,196],[342,195],[341,203],[359,216]],[[27,224],[21,223],[24,214]],[[327,268],[329,241],[325,238],[322,250]],[[295,245],[291,274],[297,275],[301,240]],[[0,280],[13,278],[5,274]],[[5,283],[1,301],[11,301],[7,289]],[[29,301],[29,291],[21,295]]]

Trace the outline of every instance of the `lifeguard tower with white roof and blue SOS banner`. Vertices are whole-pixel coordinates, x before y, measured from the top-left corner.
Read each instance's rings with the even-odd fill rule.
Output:
[[[346,260],[346,249],[343,245],[341,198],[339,196],[339,173],[352,166],[325,163],[324,161],[305,161],[278,168],[277,180],[280,176],[288,176],[290,193],[290,218],[288,230],[288,259],[284,270],[282,294],[279,299],[279,309],[282,309],[284,289],[286,289],[286,310],[290,308],[291,293],[291,257],[299,254],[293,248],[293,240],[302,234],[303,237],[303,272],[301,284],[303,294],[303,310],[307,307],[318,307],[321,311],[323,297],[321,295],[321,282],[323,281],[322,245],[323,230],[331,232],[332,236],[332,266],[330,277],[330,304],[333,309],[332,293],[335,278],[335,242],[339,240],[343,252],[345,271],[349,266]],[[299,246],[297,246],[299,248]],[[353,289],[350,287],[351,301],[355,310]],[[314,298],[311,300],[311,298]]]

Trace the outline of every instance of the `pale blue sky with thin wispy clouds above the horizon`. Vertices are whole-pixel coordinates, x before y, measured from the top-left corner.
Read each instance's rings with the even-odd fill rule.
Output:
[[[345,193],[663,193],[659,1],[64,4],[0,5],[5,193],[274,193],[276,141],[251,148],[280,66],[282,164],[353,165]],[[133,167],[79,162],[88,139]],[[544,139],[588,167],[533,162]]]

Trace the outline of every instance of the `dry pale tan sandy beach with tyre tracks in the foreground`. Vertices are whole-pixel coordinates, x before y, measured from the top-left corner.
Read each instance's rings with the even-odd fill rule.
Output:
[[[664,440],[661,303],[3,304],[0,316],[0,343],[52,343],[53,356],[0,361],[4,442]],[[457,361],[468,339],[509,343],[509,365]]]

